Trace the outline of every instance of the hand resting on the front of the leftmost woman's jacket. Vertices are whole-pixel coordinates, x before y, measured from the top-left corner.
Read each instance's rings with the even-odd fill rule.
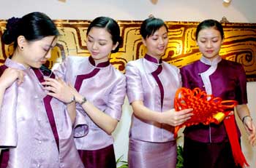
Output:
[[[48,90],[48,95],[56,97],[63,103],[72,103],[74,100],[73,87],[71,84],[66,84],[62,79],[51,79],[46,78],[44,82],[41,83],[45,90]]]

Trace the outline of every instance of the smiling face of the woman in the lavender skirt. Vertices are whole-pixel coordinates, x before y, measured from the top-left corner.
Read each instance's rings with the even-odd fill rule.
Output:
[[[165,54],[168,43],[168,32],[163,25],[153,35],[143,39],[143,44],[147,48],[147,54],[152,57],[160,58]]]

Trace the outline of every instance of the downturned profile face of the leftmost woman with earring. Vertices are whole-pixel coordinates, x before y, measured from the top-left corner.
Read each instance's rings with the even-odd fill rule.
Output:
[[[46,36],[37,41],[26,41],[20,63],[26,67],[40,68],[51,56],[51,49],[56,45],[56,36]]]

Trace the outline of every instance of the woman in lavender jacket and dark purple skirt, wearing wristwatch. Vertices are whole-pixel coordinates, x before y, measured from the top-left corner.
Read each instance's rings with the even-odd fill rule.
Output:
[[[85,167],[116,167],[111,133],[121,118],[126,81],[124,74],[110,65],[109,56],[121,44],[120,29],[112,18],[97,17],[86,36],[91,56],[69,56],[55,73],[75,87],[75,144]],[[87,135],[84,121],[89,127]]]

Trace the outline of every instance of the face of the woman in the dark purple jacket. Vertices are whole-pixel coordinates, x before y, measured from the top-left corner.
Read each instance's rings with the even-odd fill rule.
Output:
[[[204,28],[198,33],[197,45],[203,57],[213,60],[219,55],[219,50],[222,46],[222,36],[213,27]]]

